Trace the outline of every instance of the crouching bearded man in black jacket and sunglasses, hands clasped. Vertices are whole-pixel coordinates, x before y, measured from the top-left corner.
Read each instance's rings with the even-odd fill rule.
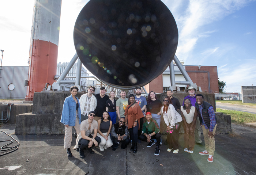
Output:
[[[124,125],[125,118],[120,118],[118,123],[115,123],[112,125],[111,128],[111,140],[113,142],[112,150],[116,151],[118,148],[118,142],[122,142],[121,149],[127,148],[127,145],[129,144],[129,132],[128,127]]]

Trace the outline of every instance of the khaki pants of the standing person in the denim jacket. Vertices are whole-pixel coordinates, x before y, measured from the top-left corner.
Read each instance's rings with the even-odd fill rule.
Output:
[[[76,130],[76,134],[77,134],[76,148],[78,148],[79,139],[82,138],[81,132],[80,132],[79,118],[78,118],[77,114],[78,113],[76,112],[76,125],[74,126],[74,128]],[[71,148],[72,129],[73,129],[73,126],[65,127],[64,149]]]

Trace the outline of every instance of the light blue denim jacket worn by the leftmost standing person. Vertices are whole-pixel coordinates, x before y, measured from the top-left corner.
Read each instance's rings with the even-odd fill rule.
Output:
[[[81,124],[81,109],[79,99],[76,97],[78,101],[78,118],[79,124]],[[72,95],[67,97],[63,104],[62,114],[60,122],[64,125],[75,126],[76,125],[76,101],[73,99]]]

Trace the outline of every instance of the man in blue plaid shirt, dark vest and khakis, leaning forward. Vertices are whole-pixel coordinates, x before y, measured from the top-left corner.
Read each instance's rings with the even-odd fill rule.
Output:
[[[202,94],[196,95],[195,106],[198,111],[200,124],[203,129],[204,144],[206,149],[199,152],[199,154],[208,155],[207,161],[213,162],[213,155],[215,151],[214,134],[217,126],[217,118],[215,117],[212,105],[204,101],[204,96]]]

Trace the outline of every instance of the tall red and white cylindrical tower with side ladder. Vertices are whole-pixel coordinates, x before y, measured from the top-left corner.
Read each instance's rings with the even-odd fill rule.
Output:
[[[35,0],[26,99],[53,84],[57,70],[61,0]]]

